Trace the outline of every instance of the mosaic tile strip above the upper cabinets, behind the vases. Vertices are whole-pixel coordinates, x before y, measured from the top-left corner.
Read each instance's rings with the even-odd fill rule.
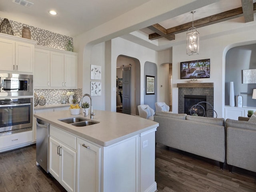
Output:
[[[8,18],[7,18],[8,19]],[[0,18],[0,23],[4,18]],[[14,36],[22,37],[23,26],[29,27],[31,31],[31,40],[38,41],[38,45],[65,50],[65,46],[70,40],[73,44],[73,38],[65,35],[50,32],[48,30],[40,29],[34,26],[23,24],[20,22],[9,20]]]

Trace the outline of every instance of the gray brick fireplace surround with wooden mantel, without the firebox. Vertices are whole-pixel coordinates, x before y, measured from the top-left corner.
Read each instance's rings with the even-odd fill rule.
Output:
[[[214,108],[214,83],[178,83],[178,113],[184,113],[184,95],[206,96],[206,102]],[[210,105],[206,105],[208,110],[206,116],[212,117],[213,112]],[[216,114],[214,114],[216,117]]]

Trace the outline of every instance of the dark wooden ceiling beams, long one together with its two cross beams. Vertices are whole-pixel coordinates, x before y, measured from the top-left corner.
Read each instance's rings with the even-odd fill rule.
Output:
[[[254,20],[254,13],[256,12],[256,3],[253,0],[241,0],[242,7],[238,7],[232,10],[214,14],[205,18],[201,18],[194,21],[194,27],[200,28],[219,22],[231,20],[238,17],[244,17],[245,22],[251,22]],[[179,26],[172,28],[164,28],[160,24],[154,24],[148,28],[154,33],[149,34],[148,38],[150,40],[155,40],[159,38],[166,38],[168,40],[175,40],[175,34],[185,32],[192,26],[192,22],[188,22]]]

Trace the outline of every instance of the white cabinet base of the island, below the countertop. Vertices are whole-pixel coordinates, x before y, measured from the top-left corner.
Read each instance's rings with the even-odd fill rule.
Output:
[[[50,125],[49,171],[69,192],[155,192],[155,131],[100,146]]]

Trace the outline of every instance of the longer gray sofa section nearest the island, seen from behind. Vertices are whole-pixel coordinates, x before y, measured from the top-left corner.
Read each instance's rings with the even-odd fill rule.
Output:
[[[154,121],[159,123],[156,143],[219,161],[223,168],[226,157],[224,118],[156,112]]]

